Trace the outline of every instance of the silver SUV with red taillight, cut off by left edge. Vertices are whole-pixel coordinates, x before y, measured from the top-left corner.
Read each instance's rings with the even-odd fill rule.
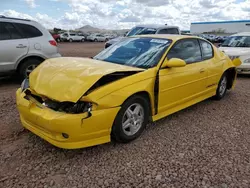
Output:
[[[41,24],[0,16],[0,75],[23,78],[45,59],[60,57],[57,42]]]

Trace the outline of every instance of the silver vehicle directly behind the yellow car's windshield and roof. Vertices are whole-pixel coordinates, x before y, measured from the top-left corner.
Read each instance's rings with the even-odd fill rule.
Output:
[[[180,35],[181,31],[177,26],[167,26],[167,25],[138,25],[133,27],[124,37],[130,37],[134,35],[148,35],[148,34],[174,34]],[[109,40],[105,44],[105,48],[108,48],[112,44],[122,40],[124,37],[117,37]]]

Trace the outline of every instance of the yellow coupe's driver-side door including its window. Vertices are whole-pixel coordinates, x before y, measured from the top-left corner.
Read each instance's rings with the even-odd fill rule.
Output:
[[[159,113],[201,96],[206,88],[208,63],[202,61],[197,39],[177,41],[169,50],[167,58],[182,59],[187,65],[160,69]]]

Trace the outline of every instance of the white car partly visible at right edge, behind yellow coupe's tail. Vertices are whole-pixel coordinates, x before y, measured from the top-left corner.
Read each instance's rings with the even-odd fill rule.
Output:
[[[240,58],[242,64],[237,68],[238,73],[250,73],[250,32],[231,35],[220,45],[219,49],[231,59]]]

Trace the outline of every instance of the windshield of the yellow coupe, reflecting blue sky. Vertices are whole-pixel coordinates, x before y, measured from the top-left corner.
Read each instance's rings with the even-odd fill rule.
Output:
[[[94,59],[146,69],[158,64],[171,42],[168,39],[125,38],[100,52]]]

